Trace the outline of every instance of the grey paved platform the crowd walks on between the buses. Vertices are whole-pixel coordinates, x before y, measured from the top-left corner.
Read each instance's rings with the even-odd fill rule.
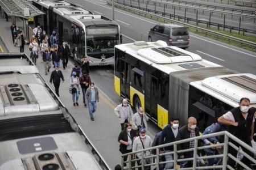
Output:
[[[16,19],[16,25],[20,28],[22,27],[22,20]],[[6,20],[0,14],[0,36],[6,44],[6,48],[9,52],[18,53],[19,48],[13,45],[11,40],[10,31],[11,22],[6,22]],[[30,30],[31,31],[31,30]],[[31,33],[30,33],[31,35]],[[5,51],[7,52],[7,51]],[[24,47],[24,53],[28,56],[30,55],[30,50],[28,45]],[[39,55],[36,66],[38,67],[40,75],[49,84],[49,86],[54,90],[53,84],[49,83],[49,77],[51,74],[44,74],[43,63],[41,63],[42,57]],[[93,142],[94,146],[104,157],[106,162],[110,167],[114,169],[115,165],[121,164],[121,153],[119,152],[119,143],[117,141],[120,132],[120,124],[118,117],[114,114],[114,104],[104,92],[100,91],[100,103],[97,103],[97,111],[94,113],[95,121],[90,120],[88,108],[85,108],[82,104],[82,92],[79,97],[79,107],[74,107],[72,102],[72,95],[69,94],[69,78],[71,74],[71,69],[73,64],[68,63],[67,69],[63,70],[61,63],[60,70],[63,72],[65,82],[60,84],[60,99],[68,109],[68,111],[75,118],[77,123],[84,130],[85,134],[89,137],[90,141]],[[50,69],[50,73],[53,71],[53,67]],[[92,77],[93,80],[96,79]],[[96,84],[97,86],[97,84]]]

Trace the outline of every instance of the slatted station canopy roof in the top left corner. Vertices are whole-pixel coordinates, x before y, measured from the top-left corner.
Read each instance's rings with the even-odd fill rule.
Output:
[[[44,14],[26,0],[0,0],[0,6],[8,16],[18,16],[24,19]]]

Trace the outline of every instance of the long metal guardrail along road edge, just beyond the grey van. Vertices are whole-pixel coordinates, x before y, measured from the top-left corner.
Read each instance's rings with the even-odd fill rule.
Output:
[[[112,5],[112,1],[106,1],[109,5]],[[236,37],[232,37],[229,35],[225,35],[223,33],[218,33],[215,31],[210,31],[209,29],[205,29],[205,28],[201,28],[201,27],[197,27],[195,25],[191,25],[191,24],[187,24],[187,23],[183,23],[183,22],[179,22],[177,20],[174,19],[170,19],[170,18],[166,18],[163,16],[159,16],[159,15],[155,15],[155,14],[150,14],[147,11],[143,11],[143,10],[138,10],[136,8],[133,7],[128,7],[128,6],[124,6],[118,3],[114,3],[115,7],[119,7],[119,8],[123,8],[124,10],[128,10],[129,12],[133,12],[134,14],[137,13],[138,15],[142,15],[142,16],[148,16],[150,15],[150,18],[152,19],[152,17],[156,18],[156,20],[163,20],[163,22],[171,22],[171,23],[176,23],[176,24],[180,24],[180,25],[184,25],[188,28],[193,28],[196,29],[196,32],[203,32],[205,33],[205,35],[214,35],[216,36],[216,39],[219,40],[220,38],[222,39],[227,39],[228,43],[230,44],[232,41],[236,41],[239,42],[241,44],[241,47],[243,46],[250,46],[250,48],[252,48],[255,52],[256,52],[256,43],[255,42],[251,42],[251,41],[247,41],[247,40],[243,40],[243,39],[239,39]]]

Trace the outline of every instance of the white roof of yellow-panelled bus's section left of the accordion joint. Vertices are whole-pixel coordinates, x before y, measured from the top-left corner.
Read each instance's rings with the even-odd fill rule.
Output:
[[[202,59],[195,53],[188,52],[176,46],[167,46],[163,41],[135,41],[130,44],[116,45],[115,48],[167,74],[203,67],[222,67],[216,63]]]

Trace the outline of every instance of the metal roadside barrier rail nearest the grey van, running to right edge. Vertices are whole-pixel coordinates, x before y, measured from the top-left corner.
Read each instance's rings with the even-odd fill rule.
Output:
[[[109,3],[109,4],[112,4],[112,1],[106,0],[106,2]],[[151,16],[154,16],[154,17],[156,17],[156,18],[163,19],[163,20],[166,20],[166,21],[169,21],[169,22],[172,22],[172,23],[181,24],[181,25],[184,25],[184,26],[189,27],[189,28],[194,28],[194,29],[196,29],[196,31],[203,31],[203,32],[205,32],[206,34],[207,34],[207,33],[210,33],[210,34],[212,34],[212,35],[216,35],[217,37],[222,37],[222,38],[228,39],[229,41],[230,41],[230,40],[237,41],[237,42],[240,42],[241,45],[246,44],[246,45],[249,45],[249,46],[253,47],[254,50],[256,51],[256,43],[255,43],[255,42],[251,42],[251,41],[239,39],[239,38],[237,38],[237,37],[232,37],[232,36],[229,36],[229,35],[225,35],[225,34],[223,34],[223,33],[218,33],[218,32],[215,32],[215,31],[211,31],[211,30],[209,30],[209,29],[197,27],[197,26],[195,26],[195,25],[191,25],[191,24],[188,24],[188,23],[183,23],[183,22],[180,22],[180,21],[177,21],[177,20],[174,20],[174,19],[170,19],[170,18],[166,18],[166,17],[160,16],[160,15],[149,14],[149,13],[146,12],[146,11],[138,10],[138,9],[136,9],[136,8],[128,7],[128,6],[125,6],[125,5],[121,5],[121,4],[116,3],[116,2],[114,3],[114,5],[115,5],[115,6],[118,6],[118,7],[125,8],[125,9],[127,9],[127,10],[140,12],[140,13],[142,13],[142,14],[144,14],[144,15],[151,15]]]

